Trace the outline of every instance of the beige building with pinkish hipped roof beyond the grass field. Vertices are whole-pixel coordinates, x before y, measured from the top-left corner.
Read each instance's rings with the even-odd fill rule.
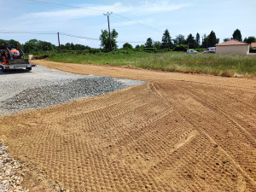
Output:
[[[219,54],[240,54],[248,55],[250,50],[250,44],[246,44],[235,39],[224,42],[222,44],[216,44],[216,53]]]

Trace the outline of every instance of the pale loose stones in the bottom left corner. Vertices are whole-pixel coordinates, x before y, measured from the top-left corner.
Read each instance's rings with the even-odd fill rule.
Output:
[[[25,175],[24,164],[9,156],[8,147],[0,141],[0,191],[28,191],[21,186]]]

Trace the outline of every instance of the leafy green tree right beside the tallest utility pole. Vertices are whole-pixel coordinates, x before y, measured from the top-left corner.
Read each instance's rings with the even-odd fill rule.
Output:
[[[119,33],[115,31],[115,29],[110,32],[110,39],[107,30],[102,30],[102,34],[100,36],[101,46],[103,47],[104,51],[112,51],[113,49],[117,49],[117,42],[116,38],[118,37]]]

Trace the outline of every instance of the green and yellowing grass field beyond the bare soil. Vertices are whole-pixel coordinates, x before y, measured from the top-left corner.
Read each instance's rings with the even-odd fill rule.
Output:
[[[61,53],[50,61],[147,68],[180,73],[206,73],[224,77],[256,77],[256,55],[218,55],[167,52],[144,53],[116,51],[110,53]]]

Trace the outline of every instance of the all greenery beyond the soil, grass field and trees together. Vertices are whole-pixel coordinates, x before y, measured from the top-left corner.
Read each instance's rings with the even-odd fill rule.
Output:
[[[195,37],[189,34],[187,38],[179,34],[172,38],[166,29],[161,42],[147,38],[145,44],[132,47],[125,43],[118,49],[117,38],[119,33],[102,30],[99,38],[100,49],[93,49],[82,44],[60,44],[55,46],[49,42],[31,39],[20,44],[26,55],[32,54],[35,59],[47,59],[56,62],[99,64],[132,68],[146,68],[180,73],[206,73],[224,77],[256,77],[256,55],[218,55],[202,54],[208,47],[219,43],[215,32],[204,34],[202,41],[200,34]],[[109,39],[110,37],[110,39]],[[231,38],[224,38],[228,41]],[[242,41],[240,30],[232,35],[232,39]],[[244,42],[251,44],[256,38],[248,37]],[[19,44],[13,39],[0,39],[0,44]],[[195,49],[198,54],[187,54],[187,49]],[[253,49],[251,52],[253,53]]]

